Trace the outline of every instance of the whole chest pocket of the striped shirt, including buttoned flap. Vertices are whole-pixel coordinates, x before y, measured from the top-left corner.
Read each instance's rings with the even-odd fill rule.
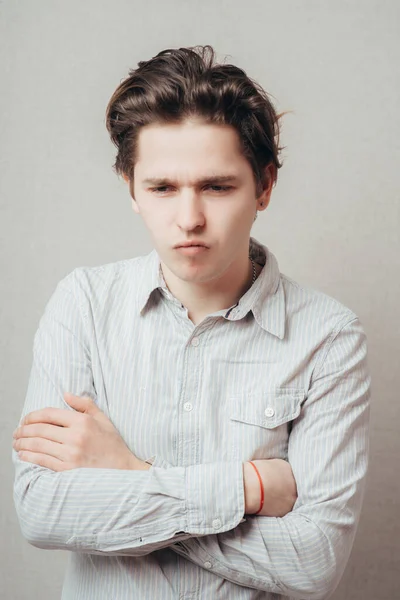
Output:
[[[305,392],[281,388],[231,398],[230,451],[234,460],[287,458],[291,422]]]

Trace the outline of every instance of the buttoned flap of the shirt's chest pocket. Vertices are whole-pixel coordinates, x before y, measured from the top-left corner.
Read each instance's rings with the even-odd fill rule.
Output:
[[[232,421],[273,429],[299,416],[305,392],[301,389],[278,389],[235,398]]]

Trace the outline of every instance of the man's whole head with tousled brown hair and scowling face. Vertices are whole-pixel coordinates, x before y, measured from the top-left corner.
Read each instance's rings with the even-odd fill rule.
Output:
[[[175,276],[207,282],[243,261],[281,166],[278,118],[260,86],[216,64],[210,46],[164,50],[114,92],[114,167]],[[205,250],[175,248],[193,240]]]

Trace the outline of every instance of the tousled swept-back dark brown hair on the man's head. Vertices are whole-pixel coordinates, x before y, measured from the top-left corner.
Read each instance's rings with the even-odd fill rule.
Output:
[[[141,127],[201,117],[237,130],[259,195],[265,167],[275,166],[275,181],[281,167],[280,116],[242,69],[215,62],[211,46],[163,50],[130,70],[108,103],[106,127],[118,150],[113,168],[132,182]]]

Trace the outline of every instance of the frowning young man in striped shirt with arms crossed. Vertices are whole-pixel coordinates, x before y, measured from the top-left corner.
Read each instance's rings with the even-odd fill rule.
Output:
[[[325,598],[362,503],[366,342],[250,237],[278,116],[210,47],[181,48],[130,72],[107,127],[155,249],[75,269],[46,307],[14,441],[22,531],[72,551],[65,600]]]

